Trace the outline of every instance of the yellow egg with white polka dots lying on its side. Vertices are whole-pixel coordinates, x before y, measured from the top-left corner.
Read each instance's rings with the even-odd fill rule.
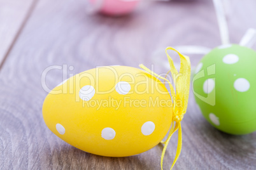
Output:
[[[153,75],[133,67],[99,67],[54,88],[43,103],[43,119],[54,134],[80,150],[125,157],[164,138],[172,107],[166,87]]]

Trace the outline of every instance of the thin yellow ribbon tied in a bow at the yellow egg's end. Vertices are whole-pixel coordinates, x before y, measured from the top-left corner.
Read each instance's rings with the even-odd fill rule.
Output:
[[[171,59],[171,56],[168,55],[167,50],[172,49],[173,51],[176,51],[178,55],[180,56],[180,72],[176,70],[174,67],[173,59]],[[173,160],[173,164],[171,166],[171,169],[173,168],[174,164],[178,160],[178,157],[180,156],[181,152],[181,145],[182,145],[182,133],[181,133],[181,120],[183,119],[183,115],[187,111],[187,104],[188,104],[188,95],[189,95],[189,88],[190,88],[190,60],[188,56],[184,56],[181,53],[179,53],[176,49],[172,47],[166,48],[166,55],[168,58],[168,62],[170,65],[170,71],[173,74],[173,81],[176,88],[176,91],[174,91],[173,85],[171,82],[169,82],[166,78],[155,74],[152,70],[146,68],[143,64],[139,65],[141,69],[144,69],[146,72],[149,72],[152,75],[155,75],[155,77],[162,79],[164,81],[167,81],[170,89],[171,89],[171,96],[173,99],[173,103],[175,101],[182,101],[182,107],[176,107],[175,103],[173,104],[173,120],[172,120],[172,126],[169,131],[168,137],[166,141],[161,141],[161,143],[164,144],[164,149],[162,150],[162,156],[161,156],[161,169],[162,164],[164,161],[164,154],[166,153],[166,148],[171,140],[171,136],[173,136],[173,133],[178,130],[178,146],[176,150],[176,156]],[[169,73],[169,72],[168,72]],[[175,122],[175,126],[174,126]]]

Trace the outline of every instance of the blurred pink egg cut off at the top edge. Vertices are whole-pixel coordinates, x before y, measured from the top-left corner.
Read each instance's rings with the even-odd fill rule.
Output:
[[[106,15],[125,15],[136,8],[136,0],[90,0],[95,11]]]

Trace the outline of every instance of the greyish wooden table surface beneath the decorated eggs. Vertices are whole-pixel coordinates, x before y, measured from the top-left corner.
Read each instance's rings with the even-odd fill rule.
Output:
[[[238,43],[248,28],[256,28],[256,1],[229,3],[231,42]],[[86,0],[0,0],[0,169],[160,169],[162,145],[111,158],[60,140],[43,121],[47,93],[41,75],[50,65],[72,66],[68,74],[97,65],[149,67],[152,54],[166,46],[218,46],[213,4],[148,2],[119,18],[88,15],[87,7]],[[190,57],[194,67],[202,56]],[[159,65],[155,69],[167,72]],[[48,72],[50,89],[60,82],[62,70]],[[222,133],[203,118],[192,93],[189,100],[182,121],[183,148],[173,169],[256,169],[256,133]],[[164,169],[173,162],[176,140],[177,134],[167,148]]]

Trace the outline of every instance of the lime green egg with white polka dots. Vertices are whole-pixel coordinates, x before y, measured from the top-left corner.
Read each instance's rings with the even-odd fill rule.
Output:
[[[196,101],[215,128],[230,134],[256,131],[256,52],[227,44],[213,49],[197,65]]]

